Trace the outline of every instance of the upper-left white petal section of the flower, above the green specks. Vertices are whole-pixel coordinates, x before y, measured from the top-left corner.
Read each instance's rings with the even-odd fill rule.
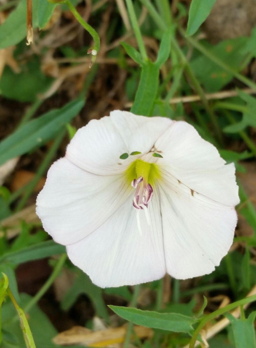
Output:
[[[131,112],[115,110],[110,117],[91,120],[78,129],[67,146],[66,157],[78,167],[99,175],[112,175],[125,171],[136,159],[124,153],[146,153],[173,121],[163,117],[137,116]]]

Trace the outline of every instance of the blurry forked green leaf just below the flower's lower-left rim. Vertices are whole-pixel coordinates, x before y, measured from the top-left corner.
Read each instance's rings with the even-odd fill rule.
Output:
[[[109,322],[109,315],[102,299],[102,289],[94,285],[85,273],[77,269],[77,278],[75,278],[73,285],[63,296],[61,302],[62,309],[68,310],[81,294],[86,294],[91,299],[96,315]]]

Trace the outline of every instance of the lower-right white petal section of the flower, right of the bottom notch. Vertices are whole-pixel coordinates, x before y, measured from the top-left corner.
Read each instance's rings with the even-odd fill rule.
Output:
[[[159,190],[167,272],[178,279],[209,274],[232,245],[237,213],[174,177],[165,183]]]

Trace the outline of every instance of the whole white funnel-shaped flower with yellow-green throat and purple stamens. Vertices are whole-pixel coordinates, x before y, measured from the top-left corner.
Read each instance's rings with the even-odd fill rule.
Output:
[[[234,165],[191,125],[117,110],[78,130],[37,214],[76,266],[111,287],[212,272],[238,203]]]

